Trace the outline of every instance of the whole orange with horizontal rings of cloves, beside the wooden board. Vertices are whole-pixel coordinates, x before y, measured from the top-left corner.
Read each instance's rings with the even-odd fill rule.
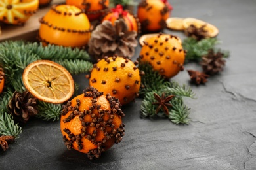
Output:
[[[40,20],[39,39],[44,44],[83,47],[91,37],[91,24],[81,9],[53,5]]]

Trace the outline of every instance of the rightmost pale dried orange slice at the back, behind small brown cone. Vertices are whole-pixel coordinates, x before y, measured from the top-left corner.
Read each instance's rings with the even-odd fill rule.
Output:
[[[185,18],[183,20],[183,26],[185,29],[187,29],[191,24],[195,25],[196,27],[202,27],[205,25],[204,29],[208,31],[209,37],[215,37],[219,33],[219,29],[215,27],[215,25],[211,25],[207,22],[204,22],[202,20],[198,20],[196,18]]]

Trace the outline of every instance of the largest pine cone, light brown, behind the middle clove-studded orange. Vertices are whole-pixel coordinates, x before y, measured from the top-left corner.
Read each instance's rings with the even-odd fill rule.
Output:
[[[95,59],[114,54],[131,58],[137,46],[136,36],[135,31],[128,31],[123,19],[116,20],[114,26],[106,20],[92,32],[88,44],[89,54]]]

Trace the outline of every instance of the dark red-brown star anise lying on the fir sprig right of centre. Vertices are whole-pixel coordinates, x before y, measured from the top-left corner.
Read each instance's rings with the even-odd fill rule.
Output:
[[[169,95],[165,98],[165,93],[162,93],[161,97],[158,94],[154,93],[154,97],[156,101],[158,101],[158,102],[152,103],[153,105],[158,105],[158,108],[156,109],[156,114],[158,114],[158,112],[160,112],[160,110],[162,109],[163,112],[168,116],[169,115],[168,107],[173,106],[171,105],[171,103],[169,103],[169,101],[173,99],[174,95]]]

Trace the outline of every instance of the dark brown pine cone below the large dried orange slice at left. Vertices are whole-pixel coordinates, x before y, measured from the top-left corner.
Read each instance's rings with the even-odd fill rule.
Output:
[[[30,116],[37,114],[36,100],[28,91],[23,93],[14,92],[7,109],[9,109],[16,122],[26,123]]]

